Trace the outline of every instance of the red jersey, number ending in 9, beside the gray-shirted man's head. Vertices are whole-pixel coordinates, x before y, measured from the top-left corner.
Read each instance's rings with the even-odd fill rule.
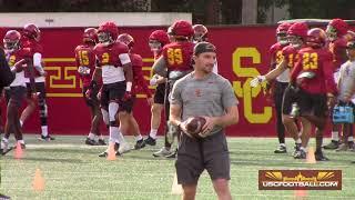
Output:
[[[173,42],[164,46],[163,58],[170,71],[192,70],[192,54],[194,43],[190,41]]]

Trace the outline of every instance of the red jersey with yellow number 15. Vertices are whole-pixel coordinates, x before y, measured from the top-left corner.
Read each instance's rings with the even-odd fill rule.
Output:
[[[93,46],[88,44],[81,44],[75,48],[75,63],[78,71],[81,71],[80,78],[83,87],[90,86],[92,73],[97,66],[93,48]]]

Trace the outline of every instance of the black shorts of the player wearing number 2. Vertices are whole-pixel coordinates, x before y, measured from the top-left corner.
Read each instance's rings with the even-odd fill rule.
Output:
[[[125,92],[125,81],[103,84],[101,89],[100,104],[102,108],[109,108],[109,103],[120,102]]]

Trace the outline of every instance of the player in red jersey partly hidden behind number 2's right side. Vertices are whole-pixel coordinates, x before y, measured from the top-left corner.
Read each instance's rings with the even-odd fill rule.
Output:
[[[129,132],[129,129],[133,131],[133,136],[135,137],[135,144],[134,149],[141,149],[145,147],[145,142],[143,140],[143,137],[140,131],[140,127],[136,123],[136,120],[133,117],[133,106],[135,101],[135,94],[140,91],[143,90],[149,106],[153,104],[153,98],[152,93],[148,88],[148,83],[144,80],[143,72],[142,72],[142,67],[143,67],[143,61],[142,57],[140,54],[133,53],[132,49],[134,46],[134,39],[132,36],[128,33],[120,34],[118,37],[118,41],[125,43],[130,51],[130,59],[132,62],[132,69],[133,69],[133,86],[132,86],[132,98],[123,103],[123,107],[120,108],[122,112],[119,113],[119,119],[121,121],[120,123],[120,130],[123,133]],[[122,122],[122,120],[126,120],[125,122]]]

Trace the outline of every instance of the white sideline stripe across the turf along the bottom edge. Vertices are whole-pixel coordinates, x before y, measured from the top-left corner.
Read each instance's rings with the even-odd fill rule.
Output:
[[[33,190],[32,188],[6,188],[3,189],[6,190]],[[45,191],[61,191],[61,192],[89,192],[89,193],[146,193],[146,194],[164,194],[162,192],[153,192],[153,191],[138,191],[138,190],[70,190],[70,189],[65,189],[65,190],[60,190],[60,189],[45,189]],[[292,192],[292,190],[290,191]],[[170,191],[168,191],[168,193],[170,193]],[[173,194],[171,194],[173,196]],[[215,196],[215,193],[212,192],[199,192],[196,193],[196,197],[199,196]],[[232,194],[232,197],[275,197],[275,194],[258,194],[258,193],[253,193],[253,194]],[[277,194],[277,197],[284,197],[284,198],[294,198],[294,194]],[[339,196],[307,196],[308,198],[321,198],[321,199],[352,199],[349,197],[339,197]]]

